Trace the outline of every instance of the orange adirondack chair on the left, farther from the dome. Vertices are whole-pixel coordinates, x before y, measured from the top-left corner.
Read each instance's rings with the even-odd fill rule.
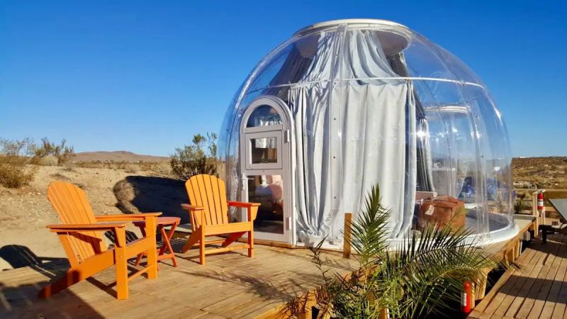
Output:
[[[47,225],[57,233],[71,268],[40,291],[40,296],[49,297],[79,281],[116,265],[116,296],[128,298],[128,281],[144,272],[148,279],[157,278],[156,225],[162,213],[94,216],[84,191],[71,183],[52,181],[47,187],[47,198],[57,211],[62,224]],[[131,220],[145,220],[146,237],[126,242],[126,225]],[[111,230],[116,239],[115,246],[107,250],[101,232]],[[147,253],[147,267],[128,277],[127,260],[140,252]]]

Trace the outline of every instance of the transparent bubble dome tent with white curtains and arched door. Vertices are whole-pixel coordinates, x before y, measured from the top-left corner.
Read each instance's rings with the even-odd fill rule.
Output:
[[[373,184],[393,242],[417,229],[427,195],[464,201],[475,240],[517,234],[509,141],[488,89],[398,23],[317,23],[269,52],[228,108],[218,156],[229,198],[261,203],[261,240],[340,246],[344,213]]]

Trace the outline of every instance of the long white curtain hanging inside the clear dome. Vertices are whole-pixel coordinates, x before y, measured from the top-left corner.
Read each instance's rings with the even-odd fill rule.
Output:
[[[410,83],[369,79],[377,77],[398,77],[378,33],[339,31],[319,38],[308,72],[287,91],[296,130],[300,240],[341,240],[344,212],[359,211],[373,184],[381,186],[382,202],[391,209],[392,237],[410,228],[415,101]]]

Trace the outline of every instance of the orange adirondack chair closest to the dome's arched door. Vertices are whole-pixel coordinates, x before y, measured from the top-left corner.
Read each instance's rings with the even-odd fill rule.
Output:
[[[185,183],[191,204],[181,204],[181,208],[189,211],[193,233],[183,247],[183,252],[199,245],[199,262],[205,264],[206,254],[218,254],[230,250],[248,249],[248,257],[254,257],[254,219],[259,203],[243,203],[227,201],[225,182],[218,177],[201,174],[191,177]],[[229,223],[228,207],[247,208],[248,220],[240,223]],[[245,245],[230,246],[238,238],[248,233]],[[230,235],[229,235],[230,234]],[[207,236],[229,235],[223,240],[205,241]],[[221,248],[205,250],[206,244],[222,243]]]

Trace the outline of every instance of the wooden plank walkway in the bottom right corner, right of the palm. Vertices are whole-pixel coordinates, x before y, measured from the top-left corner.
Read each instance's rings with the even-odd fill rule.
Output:
[[[534,240],[516,263],[469,318],[567,318],[567,236]]]

